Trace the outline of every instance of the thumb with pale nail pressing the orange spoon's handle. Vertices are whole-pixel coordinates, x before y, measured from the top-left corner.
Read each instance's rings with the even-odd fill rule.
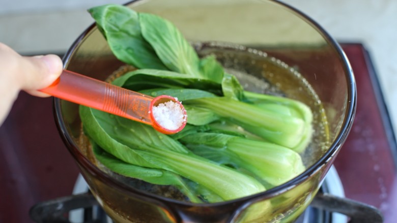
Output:
[[[49,86],[61,75],[62,60],[56,55],[22,57],[18,75],[19,88],[32,95],[46,97],[38,91]]]

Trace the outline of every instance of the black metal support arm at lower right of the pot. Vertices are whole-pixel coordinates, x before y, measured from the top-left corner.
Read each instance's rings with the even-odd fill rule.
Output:
[[[383,223],[383,215],[376,207],[327,193],[318,193],[310,206],[347,215],[349,223]]]

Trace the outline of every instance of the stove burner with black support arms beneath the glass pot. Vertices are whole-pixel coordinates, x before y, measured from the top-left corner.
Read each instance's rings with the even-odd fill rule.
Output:
[[[112,222],[89,192],[81,175],[77,178],[73,194],[35,205],[30,211],[31,218],[36,222]],[[350,216],[349,223],[383,222],[382,214],[375,207],[344,197],[341,180],[332,166],[319,194],[295,223],[343,223],[347,222],[346,215]],[[69,213],[69,216],[65,213]]]

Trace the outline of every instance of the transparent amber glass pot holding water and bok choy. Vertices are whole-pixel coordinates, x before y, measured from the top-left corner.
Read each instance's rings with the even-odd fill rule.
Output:
[[[249,222],[296,219],[318,192],[354,118],[354,77],[338,44],[316,22],[277,1],[150,0],[126,5],[171,20],[201,55],[214,53],[223,65],[225,55],[236,54],[228,66],[238,63],[244,72],[265,78],[319,111],[315,118],[327,125],[317,131],[326,137],[306,152],[306,171],[282,185],[233,201],[191,204],[133,188],[95,166],[80,141],[78,105],[55,99],[64,142],[106,213],[116,222],[244,222],[270,202],[271,209],[248,217],[253,219]],[[122,66],[95,24],[64,57],[65,69],[100,80]],[[309,99],[307,92],[316,92],[317,98]]]

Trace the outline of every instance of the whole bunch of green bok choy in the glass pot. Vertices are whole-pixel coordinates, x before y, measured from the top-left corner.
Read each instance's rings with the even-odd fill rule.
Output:
[[[89,11],[114,54],[137,68],[113,84],[177,97],[188,115],[185,129],[167,136],[81,106],[84,132],[109,170],[176,186],[192,202],[260,193],[304,170],[298,152],[313,132],[306,105],[244,91],[214,55],[199,58],[181,32],[159,16],[117,5]],[[257,214],[269,208],[263,204]]]

